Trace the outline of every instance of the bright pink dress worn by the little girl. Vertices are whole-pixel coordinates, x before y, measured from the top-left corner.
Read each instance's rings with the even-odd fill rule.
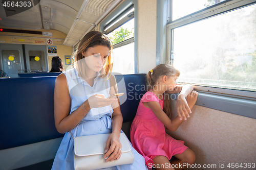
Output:
[[[176,154],[182,154],[187,147],[183,141],[176,140],[165,133],[163,123],[150,108],[142,102],[158,102],[163,109],[163,100],[147,91],[140,100],[136,116],[131,127],[131,141],[133,147],[145,158],[148,168],[153,165],[156,156],[165,156],[169,160]],[[150,168],[151,169],[151,168]]]

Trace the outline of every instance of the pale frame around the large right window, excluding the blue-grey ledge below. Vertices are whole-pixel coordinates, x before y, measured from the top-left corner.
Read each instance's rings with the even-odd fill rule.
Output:
[[[210,7],[207,7],[205,9],[202,9],[198,12],[191,13],[189,15],[186,15],[182,18],[176,19],[174,21],[170,21],[167,23],[167,61],[170,61],[173,64],[173,29],[182,27],[185,25],[188,25],[193,22],[197,22],[200,20],[208,19],[210,17],[214,17],[226,12],[230,12],[239,8],[243,8],[252,4],[256,4],[253,0],[232,0],[232,1],[224,1],[215,5],[212,5]],[[185,82],[179,82],[182,84],[188,84]],[[227,89],[227,88],[221,88],[221,87],[211,87],[211,86],[205,86],[201,84],[193,84],[189,83],[194,86],[195,90],[202,91],[202,92],[210,92],[212,94],[217,95],[232,95],[236,96],[236,98],[239,99],[248,99],[256,101],[256,92],[253,91],[246,91],[246,90],[236,90],[236,89]]]

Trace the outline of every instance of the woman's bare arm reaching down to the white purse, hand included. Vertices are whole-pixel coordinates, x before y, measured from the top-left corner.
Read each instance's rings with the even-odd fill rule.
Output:
[[[113,75],[110,77],[110,84],[111,84],[110,95],[117,93],[118,91],[117,83],[116,83],[115,76]],[[115,102],[113,102],[112,108],[114,110],[112,114],[112,118],[113,118],[112,133],[109,136],[108,140],[106,140],[106,147],[104,151],[105,154],[103,157],[105,159],[109,156],[109,158],[106,159],[106,162],[113,161],[115,159],[118,160],[122,154],[120,150],[122,149],[122,146],[121,146],[121,142],[119,141],[119,137],[120,137],[120,132],[122,128],[123,116],[120,110],[120,103],[118,98]]]

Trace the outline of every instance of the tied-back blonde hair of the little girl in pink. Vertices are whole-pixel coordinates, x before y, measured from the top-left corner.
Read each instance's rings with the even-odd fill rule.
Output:
[[[152,89],[154,85],[156,84],[157,80],[160,77],[167,76],[173,77],[173,76],[180,76],[180,71],[174,68],[170,64],[159,64],[155,68],[153,68],[151,71],[148,71],[147,73],[147,88]],[[163,105],[163,111],[166,113],[166,115],[171,118],[172,111],[170,109],[170,98],[169,94],[166,93],[166,91],[163,94],[164,99],[164,105]]]

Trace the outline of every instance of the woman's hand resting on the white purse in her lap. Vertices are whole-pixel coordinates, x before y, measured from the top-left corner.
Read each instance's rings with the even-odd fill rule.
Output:
[[[108,140],[106,140],[106,147],[104,151],[104,159],[106,162],[118,160],[122,155],[122,145],[119,141],[120,134],[111,133]],[[108,159],[107,159],[108,158]]]

